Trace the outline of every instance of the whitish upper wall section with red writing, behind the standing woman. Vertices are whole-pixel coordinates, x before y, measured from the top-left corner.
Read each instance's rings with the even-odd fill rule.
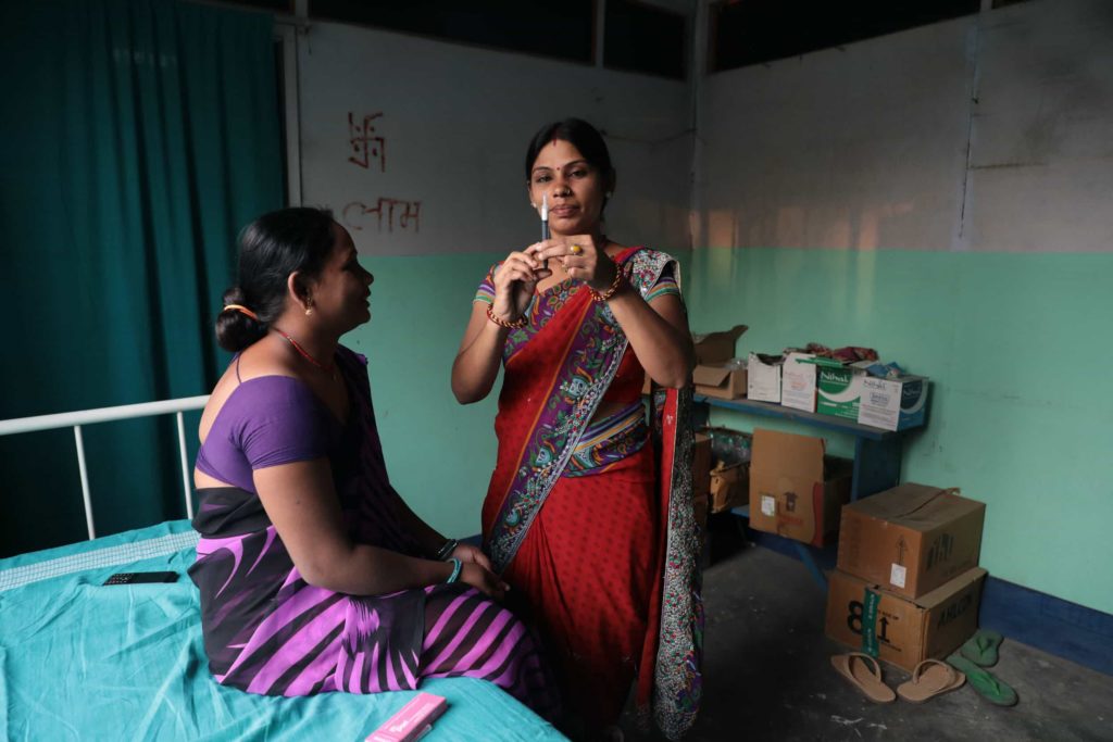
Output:
[[[578,116],[619,174],[609,234],[688,247],[687,83],[337,23],[298,40],[303,202],[331,207],[370,255],[502,251],[539,239],[525,194],[532,135]],[[353,147],[349,112],[385,157]],[[373,152],[372,152],[373,155]],[[394,214],[391,218],[392,201]],[[416,206],[420,204],[420,206]],[[372,209],[364,210],[363,207]],[[405,218],[406,208],[417,218]]]

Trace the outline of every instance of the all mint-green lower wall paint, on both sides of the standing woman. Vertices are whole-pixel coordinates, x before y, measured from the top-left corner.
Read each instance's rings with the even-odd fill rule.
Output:
[[[449,388],[470,300],[501,255],[364,258],[371,359],[392,479],[433,525],[479,532],[494,399]],[[867,345],[933,379],[903,477],[987,504],[991,574],[1113,613],[1113,255],[699,249],[680,254],[695,332],[745,323],[738,353]],[[752,419],[716,410],[712,422]],[[764,423],[767,424],[767,423]],[[791,428],[788,428],[791,429]],[[814,433],[805,428],[799,432]],[[849,439],[829,439],[847,454]]]

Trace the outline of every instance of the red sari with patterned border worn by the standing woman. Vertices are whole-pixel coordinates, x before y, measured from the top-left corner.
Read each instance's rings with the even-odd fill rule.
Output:
[[[637,248],[617,263],[642,296],[674,266]],[[571,710],[591,728],[615,723],[637,675],[639,710],[677,738],[695,721],[702,643],[690,392],[656,395],[650,435],[644,373],[607,305],[565,281],[533,309],[531,329],[508,338],[485,548],[546,640]],[[602,402],[623,413],[593,421]]]

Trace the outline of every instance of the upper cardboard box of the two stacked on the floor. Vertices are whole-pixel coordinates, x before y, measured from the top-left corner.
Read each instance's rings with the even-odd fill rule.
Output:
[[[843,508],[838,568],[916,598],[977,566],[985,504],[902,484]]]

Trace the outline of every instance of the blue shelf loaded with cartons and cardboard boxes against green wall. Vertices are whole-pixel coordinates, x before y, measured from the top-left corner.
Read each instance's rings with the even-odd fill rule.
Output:
[[[897,486],[904,439],[926,424],[928,380],[894,373],[895,365],[850,364],[819,353],[751,353],[742,363],[731,356],[745,330],[737,326],[693,337],[696,428],[707,429],[712,409],[730,410],[848,435],[854,456],[829,457],[821,438],[755,426],[747,452],[752,462],[747,457],[741,471],[721,464],[712,469],[709,509],[729,508],[748,518],[751,527],[791,540],[816,581],[826,586],[810,547],[833,543],[845,503]],[[869,357],[877,356],[870,352]],[[749,438],[746,445],[751,445]],[[715,458],[720,462],[722,456]]]

